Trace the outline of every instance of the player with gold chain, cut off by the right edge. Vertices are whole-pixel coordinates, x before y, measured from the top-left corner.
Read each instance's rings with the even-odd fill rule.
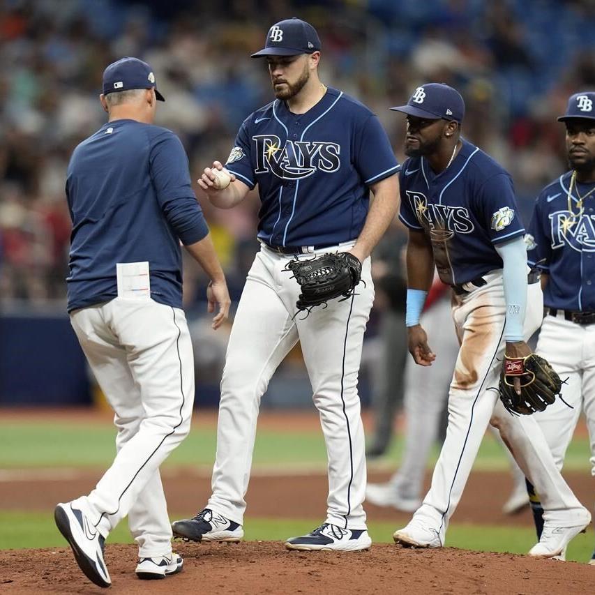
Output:
[[[557,401],[535,419],[562,469],[584,411],[595,476],[595,92],[571,96],[558,120],[566,124],[571,170],[541,191],[526,241],[529,264],[542,271],[545,317],[536,352],[566,379],[563,396],[570,407]],[[532,486],[529,494],[540,536],[543,509]]]

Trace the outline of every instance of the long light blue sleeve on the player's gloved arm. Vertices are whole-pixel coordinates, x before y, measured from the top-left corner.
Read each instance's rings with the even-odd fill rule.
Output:
[[[504,263],[504,300],[506,301],[506,326],[504,338],[507,341],[522,341],[525,336],[522,327],[527,310],[527,246],[522,236],[509,242],[494,245]]]

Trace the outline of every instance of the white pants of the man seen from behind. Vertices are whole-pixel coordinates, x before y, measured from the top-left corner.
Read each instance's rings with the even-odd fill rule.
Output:
[[[140,557],[169,555],[159,465],[190,430],[194,363],[184,312],[118,297],[75,310],[70,322],[118,428],[112,467],[76,502],[103,536],[128,515]]]

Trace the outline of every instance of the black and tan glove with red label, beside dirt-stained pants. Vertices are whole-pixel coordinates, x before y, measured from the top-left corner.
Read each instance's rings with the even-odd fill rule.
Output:
[[[515,377],[520,379],[520,395],[514,389]],[[504,407],[512,414],[543,411],[560,395],[560,389],[562,380],[543,357],[534,353],[525,358],[504,356],[498,391]]]

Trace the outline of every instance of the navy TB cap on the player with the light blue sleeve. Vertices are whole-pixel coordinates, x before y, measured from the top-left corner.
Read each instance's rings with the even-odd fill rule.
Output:
[[[460,93],[444,83],[430,82],[419,86],[407,101],[407,105],[391,107],[395,112],[429,120],[455,120],[465,117],[465,101]]]

